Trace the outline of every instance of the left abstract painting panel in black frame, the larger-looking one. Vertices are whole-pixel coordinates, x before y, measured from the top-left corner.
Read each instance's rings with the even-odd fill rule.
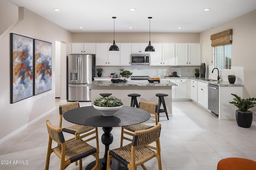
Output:
[[[33,39],[10,33],[10,102],[33,96]]]

